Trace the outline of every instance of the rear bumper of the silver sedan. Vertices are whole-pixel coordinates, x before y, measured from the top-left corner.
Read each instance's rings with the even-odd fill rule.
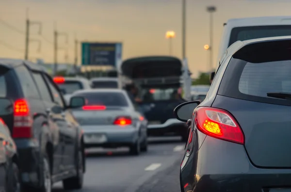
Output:
[[[82,126],[84,131],[84,143],[86,148],[90,147],[122,147],[134,144],[139,138],[139,130],[133,126]],[[88,135],[102,135],[102,139],[91,141]]]

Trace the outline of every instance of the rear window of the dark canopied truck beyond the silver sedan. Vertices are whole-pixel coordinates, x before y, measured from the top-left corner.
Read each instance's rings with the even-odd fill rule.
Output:
[[[142,90],[143,102],[168,101],[177,99],[179,99],[178,88]]]

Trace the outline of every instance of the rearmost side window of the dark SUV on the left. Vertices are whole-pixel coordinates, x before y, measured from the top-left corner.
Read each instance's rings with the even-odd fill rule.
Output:
[[[24,66],[15,68],[16,74],[19,78],[20,85],[25,97],[40,98],[39,93],[35,87],[32,75]]]

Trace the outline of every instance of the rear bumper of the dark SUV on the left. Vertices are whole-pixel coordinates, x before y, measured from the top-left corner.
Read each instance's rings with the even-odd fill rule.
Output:
[[[39,184],[39,143],[33,139],[15,139],[21,179],[23,183],[38,186]]]

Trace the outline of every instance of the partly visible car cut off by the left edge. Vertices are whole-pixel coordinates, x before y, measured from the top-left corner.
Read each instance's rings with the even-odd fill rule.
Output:
[[[3,114],[3,111],[0,113]],[[20,191],[18,163],[16,145],[7,125],[0,118],[0,192]]]

